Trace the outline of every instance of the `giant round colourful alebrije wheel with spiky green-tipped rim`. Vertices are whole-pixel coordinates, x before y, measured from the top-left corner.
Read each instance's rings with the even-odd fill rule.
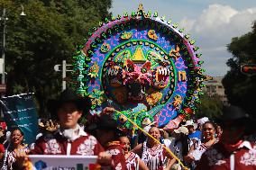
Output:
[[[206,76],[195,40],[158,13],[124,13],[99,22],[73,57],[78,94],[88,95],[91,113],[105,106],[141,125],[144,118],[167,124],[195,112]],[[130,128],[120,114],[120,125]]]

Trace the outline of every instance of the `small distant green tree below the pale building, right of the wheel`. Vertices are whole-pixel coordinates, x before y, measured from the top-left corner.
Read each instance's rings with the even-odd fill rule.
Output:
[[[210,120],[214,121],[216,118],[220,117],[223,103],[217,94],[212,96],[204,94],[200,97],[200,100],[202,103],[197,106],[197,119],[208,117]]]

